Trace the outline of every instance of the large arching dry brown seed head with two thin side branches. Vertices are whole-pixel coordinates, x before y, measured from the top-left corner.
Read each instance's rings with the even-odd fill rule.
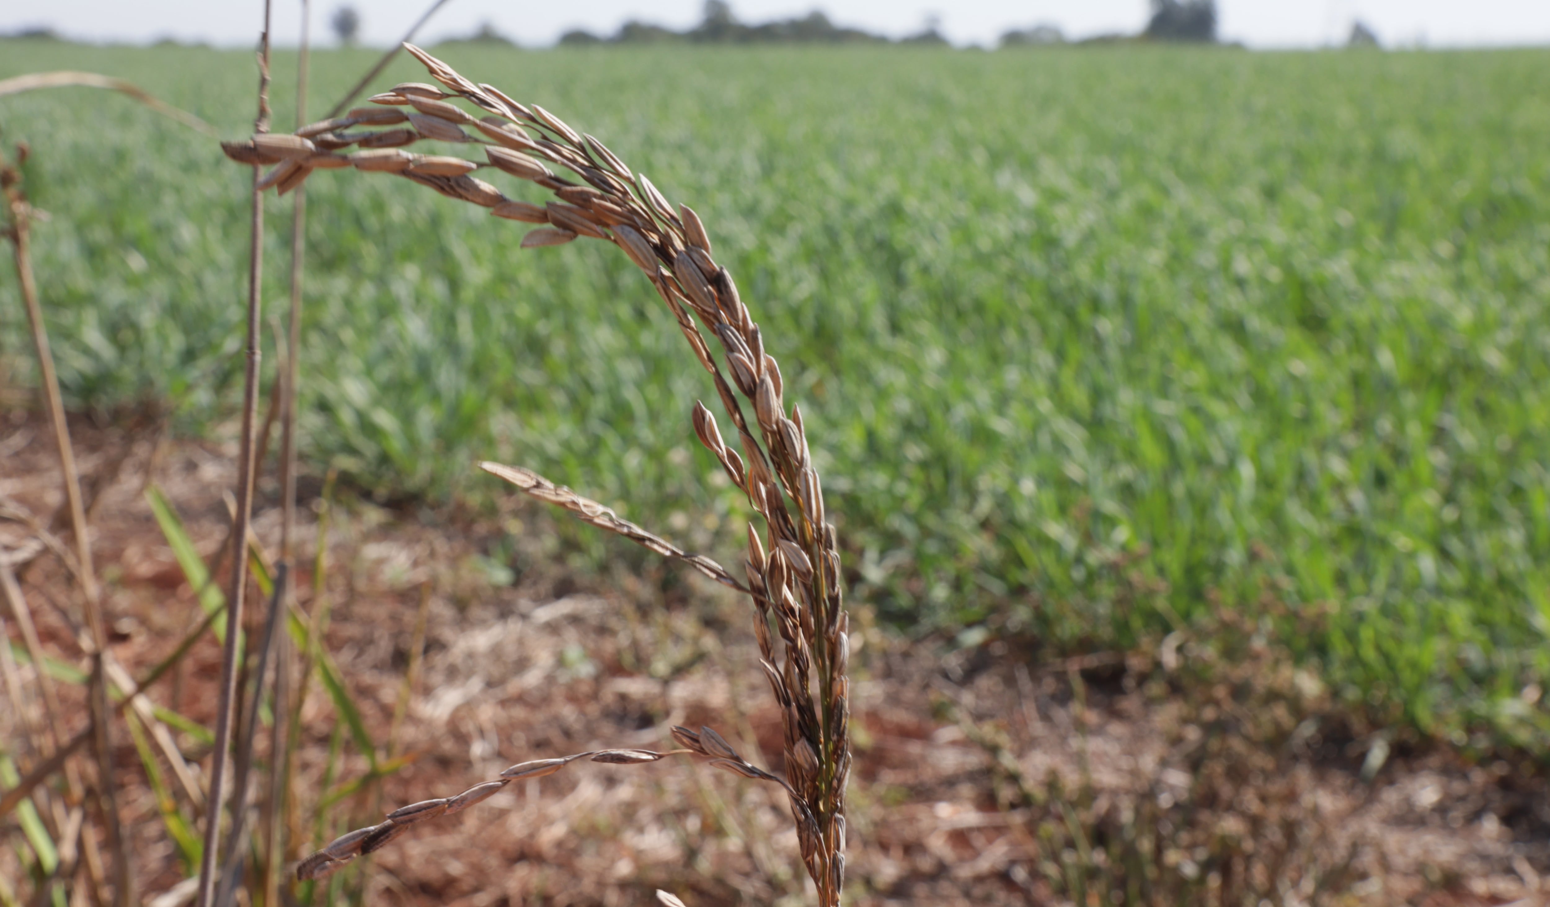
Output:
[[[542,107],[519,104],[491,85],[465,79],[420,48],[405,47],[442,87],[400,84],[370,98],[375,107],[350,110],[293,135],[256,135],[246,143],[225,143],[228,157],[246,164],[274,164],[257,186],[273,186],[281,194],[299,186],[316,169],[355,167],[398,175],[451,198],[490,208],[496,217],[542,225],[522,239],[522,248],[561,245],[581,236],[601,239],[620,247],[646,274],[694,358],[711,375],[736,431],[733,448],[716,417],[696,403],[696,436],[764,522],[763,532],[753,524],[747,527],[747,585],[715,561],[688,555],[532,471],[499,464],[482,467],[592,526],[684,560],[753,600],[761,667],[783,715],[786,777],[747,763],[710,729],[698,733],[674,729],[674,736],[685,747],[680,752],[711,757],[713,764],[786,788],[818,902],[839,904],[845,881],[845,786],[851,764],[848,619],[834,527],[825,519],[822,484],[812,467],[801,409],[787,408],[783,398],[780,364],[766,350],[764,335],[742,304],[732,274],[711,257],[710,237],[693,209],[670,205],[651,180],[632,172],[601,141],[574,130]],[[456,99],[487,115],[476,119],[451,102]],[[367,129],[349,132],[355,127]],[[487,163],[403,150],[423,140],[480,144]],[[360,150],[341,153],[350,147]],[[583,181],[556,175],[550,164]],[[542,206],[512,200],[471,175],[491,167],[549,189],[555,200]],[[711,353],[704,332],[719,341],[725,366]],[[744,403],[753,408],[752,420],[744,414]],[[560,771],[583,757],[656,761],[662,755],[668,754],[603,750],[524,763],[508,772]],[[471,805],[488,795],[480,791],[494,792],[507,780],[510,775],[454,798],[389,814],[388,822],[350,833],[318,851],[301,864],[299,873],[304,878],[322,874],[358,853],[386,845],[414,822],[451,812],[454,803],[457,809]]]

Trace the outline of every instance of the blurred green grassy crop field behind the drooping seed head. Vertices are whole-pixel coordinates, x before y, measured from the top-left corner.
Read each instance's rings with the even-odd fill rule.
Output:
[[[318,56],[313,109],[369,57]],[[1091,648],[1319,606],[1293,642],[1336,688],[1421,729],[1550,727],[1519,698],[1550,679],[1550,53],[446,57],[698,208],[882,616]],[[0,76],[48,68],[231,136],[253,116],[246,53],[0,43]],[[71,400],[229,420],[246,172],[105,93],[0,99],[0,127],[53,216]],[[315,175],[308,212],[315,470],[477,499],[473,459],[521,462],[727,557],[742,509],[688,428],[715,392],[623,256],[522,253],[355,172]],[[9,278],[0,343],[29,381]]]

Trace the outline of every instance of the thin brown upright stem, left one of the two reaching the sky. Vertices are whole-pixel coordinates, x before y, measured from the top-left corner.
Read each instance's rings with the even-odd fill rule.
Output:
[[[264,2],[264,34],[259,40],[259,115],[254,132],[270,129],[270,14],[271,0]],[[259,319],[264,290],[264,195],[259,191],[262,172],[253,167],[253,236],[248,253],[248,357],[242,391],[242,450],[237,459],[237,518],[232,529],[231,592],[226,595],[226,645],[220,665],[220,705],[215,710],[215,749],[211,754],[209,809],[205,811],[205,853],[200,857],[198,907],[211,907],[215,898],[215,873],[220,857],[220,803],[225,798],[226,767],[231,761],[232,704],[237,698],[239,639],[242,605],[248,586],[248,521],[253,512],[253,447],[259,408]],[[240,809],[239,803],[236,809]]]

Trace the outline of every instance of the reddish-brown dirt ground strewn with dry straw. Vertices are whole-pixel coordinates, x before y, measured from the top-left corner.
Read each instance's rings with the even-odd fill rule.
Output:
[[[200,616],[144,490],[161,488],[214,560],[236,470],[231,445],[172,442],[126,425],[82,419],[73,431],[95,485],[112,654],[138,676]],[[304,491],[302,546],[315,550],[319,484]],[[25,549],[34,530],[17,518],[48,524],[60,502],[46,425],[22,411],[0,414],[0,543]],[[256,527],[271,550],[274,502],[264,482]],[[346,757],[324,778],[336,715],[313,684],[293,785],[293,856],[318,845],[316,836],[454,794],[512,763],[608,746],[666,749],[673,724],[713,724],[752,761],[780,769],[778,715],[747,611],[718,586],[676,567],[586,575],[553,566],[550,515],[536,504],[484,515],[388,510],[341,491],[330,513],[321,595],[308,566],[301,606],[310,612],[327,597],[327,648],[383,755],[391,747],[409,761],[380,789],[335,803],[319,831],[319,792],[360,777],[366,761],[343,735]],[[480,558],[518,522],[519,571],[502,575]],[[85,664],[60,563],[45,550],[22,575],[45,650]],[[394,727],[422,616],[423,657]],[[854,904],[1118,904],[1141,879],[1153,879],[1158,902],[1541,902],[1550,809],[1531,760],[1471,763],[1434,744],[1373,760],[1381,735],[1342,736],[1319,713],[1318,679],[1277,660],[1274,647],[1256,643],[1245,671],[1209,679],[1189,671],[1192,653],[1206,650],[1187,639],[1051,662],[1026,647],[952,651],[936,639],[902,640],[876,628],[865,606],[854,625]],[[208,726],[219,665],[206,637],[150,696]],[[28,664],[20,679],[34,682]],[[79,688],[65,696],[81,701]],[[79,715],[70,712],[68,732]],[[5,699],[0,747],[25,771],[22,736]],[[121,808],[149,901],[184,868],[122,722],[115,740]],[[177,741],[203,778],[208,747],[188,735]],[[1364,763],[1378,767],[1370,783]],[[25,890],[14,817],[0,820],[0,876]],[[364,879],[366,904],[622,905],[651,902],[654,888],[690,907],[806,902],[778,791],[687,758],[577,763],[518,781],[356,865],[364,874],[352,867],[344,888]],[[1073,895],[1076,885],[1087,895]]]

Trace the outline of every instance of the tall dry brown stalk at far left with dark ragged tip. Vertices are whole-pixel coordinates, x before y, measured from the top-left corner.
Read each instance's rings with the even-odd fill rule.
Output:
[[[22,161],[26,160],[26,146],[19,149]],[[20,161],[19,161],[20,163]],[[85,499],[81,495],[81,471],[76,467],[74,447],[70,443],[70,425],[65,422],[64,395],[59,391],[59,375],[54,372],[54,355],[48,346],[48,330],[43,326],[43,310],[37,301],[37,281],[33,276],[33,259],[29,254],[33,208],[22,191],[22,174],[8,160],[0,157],[0,191],[5,192],[6,237],[16,257],[17,279],[22,285],[22,302],[26,307],[26,319],[33,332],[33,347],[37,352],[37,367],[43,383],[43,402],[48,406],[48,419],[54,429],[54,448],[59,456],[60,479],[65,485],[65,501],[70,509],[70,529],[74,536],[74,574],[81,585],[81,609],[85,616],[90,633],[91,682],[88,688],[88,707],[91,713],[93,749],[96,752],[96,809],[102,817],[107,831],[107,843],[113,851],[113,905],[127,907],[135,902],[133,870],[129,865],[129,854],[124,843],[122,826],[118,814],[118,797],[113,778],[113,744],[110,733],[110,715],[107,696],[107,623],[102,619],[102,591],[96,581],[96,571],[91,564],[91,535],[87,526]],[[67,769],[67,783],[71,798],[79,802],[82,795],[81,780],[74,767]],[[87,847],[87,865],[93,882],[101,887],[101,870],[95,843]]]

